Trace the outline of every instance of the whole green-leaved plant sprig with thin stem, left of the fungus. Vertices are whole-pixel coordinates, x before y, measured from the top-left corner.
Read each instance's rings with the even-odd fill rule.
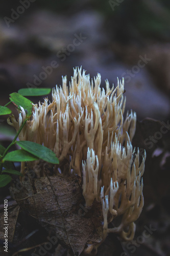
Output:
[[[33,88],[31,90],[28,88],[20,89],[18,93],[10,94],[10,101],[6,105],[0,105],[0,115],[7,115],[12,113],[12,111],[7,108],[7,106],[11,102],[16,106],[17,109],[21,110],[21,108],[23,108],[23,110],[25,110],[26,112],[26,119],[23,121],[22,125],[20,126],[18,132],[16,133],[14,139],[9,144],[9,146],[5,148],[0,144],[0,187],[4,187],[9,182],[11,182],[12,178],[10,175],[12,174],[23,176],[20,172],[13,169],[13,166],[15,165],[11,162],[25,162],[43,159],[46,162],[59,164],[59,160],[56,157],[55,153],[49,148],[31,141],[16,141],[19,133],[23,129],[23,126],[25,126],[27,121],[32,116],[33,102],[25,96],[41,96],[49,94],[50,92],[51,89],[49,88]],[[19,145],[21,147],[21,150],[9,152],[11,146],[14,144]],[[3,169],[3,167],[5,169]]]

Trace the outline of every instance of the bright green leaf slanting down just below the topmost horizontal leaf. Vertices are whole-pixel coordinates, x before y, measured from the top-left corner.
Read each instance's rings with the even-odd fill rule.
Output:
[[[18,93],[11,93],[10,94],[10,100],[17,106],[17,108],[20,110],[20,106],[25,110],[27,118],[31,117],[32,115],[32,109],[33,106],[31,103],[33,103],[31,100],[23,97],[22,95]]]

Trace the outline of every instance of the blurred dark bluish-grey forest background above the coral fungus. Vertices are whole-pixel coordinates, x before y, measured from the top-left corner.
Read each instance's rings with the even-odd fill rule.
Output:
[[[138,120],[169,115],[169,1],[9,0],[0,15],[2,103],[28,84],[53,88],[62,75],[69,82],[82,66],[102,75],[102,87],[124,76],[127,109]],[[41,74],[52,61],[58,67]]]

